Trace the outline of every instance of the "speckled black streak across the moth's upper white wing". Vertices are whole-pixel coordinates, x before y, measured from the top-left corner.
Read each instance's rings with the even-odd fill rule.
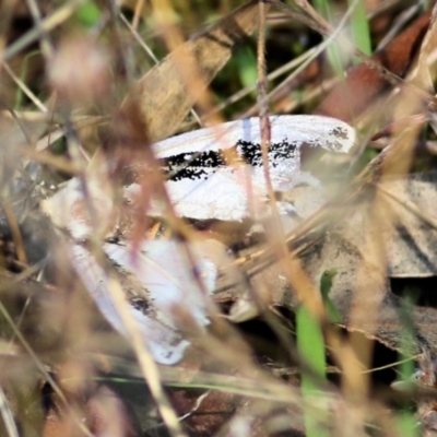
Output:
[[[297,150],[300,145],[300,142],[291,143],[287,140],[270,144],[269,161],[271,165],[275,167],[279,162],[298,158]],[[262,166],[262,151],[259,143],[239,140],[236,145],[226,149],[226,152],[229,152],[229,156],[237,156],[241,163],[253,167]],[[180,153],[161,161],[164,175],[169,180],[206,179],[214,173],[214,169],[232,165],[223,151]]]

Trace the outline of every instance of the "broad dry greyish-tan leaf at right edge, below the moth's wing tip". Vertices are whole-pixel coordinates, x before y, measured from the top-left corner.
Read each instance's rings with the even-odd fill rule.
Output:
[[[382,238],[386,247],[387,274],[390,276],[428,276],[437,271],[435,243],[437,222],[433,210],[436,192],[437,174],[416,174],[409,178],[389,180],[380,188],[386,197],[390,213],[394,213],[397,223],[394,229],[382,229],[375,238]],[[326,270],[335,268],[338,274],[333,281],[331,297],[342,314],[345,326],[350,330],[358,330],[375,338],[389,347],[402,350],[405,347],[405,320],[401,317],[401,300],[390,291],[388,280],[385,290],[377,290],[378,275],[383,265],[371,265],[369,259],[362,252],[361,241],[369,229],[371,197],[364,199],[362,204],[351,206],[344,212],[344,220],[336,226],[335,233],[324,237],[306,258],[306,265],[311,277],[317,281]],[[371,259],[371,258],[370,258]],[[366,269],[366,298],[371,302],[379,293],[385,295],[378,308],[376,324],[371,317],[366,320],[350,320],[350,305],[357,287],[357,271]],[[363,308],[364,315],[366,308]],[[435,320],[437,310],[434,308],[414,307],[411,321],[416,333],[428,344],[437,340]],[[416,349],[417,344],[408,347]]]

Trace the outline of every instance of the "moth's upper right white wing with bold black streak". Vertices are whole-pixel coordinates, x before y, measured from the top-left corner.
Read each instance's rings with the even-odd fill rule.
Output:
[[[322,116],[272,116],[268,150],[269,174],[274,192],[317,179],[300,170],[300,147],[309,145],[347,153],[355,142],[355,130],[347,123]],[[178,215],[199,221],[240,222],[262,215],[268,190],[262,164],[261,130],[258,117],[194,130],[153,145],[162,162],[166,189]],[[138,184],[126,187],[134,201]],[[277,202],[280,213],[294,208]],[[153,199],[150,215],[164,213],[164,204]]]

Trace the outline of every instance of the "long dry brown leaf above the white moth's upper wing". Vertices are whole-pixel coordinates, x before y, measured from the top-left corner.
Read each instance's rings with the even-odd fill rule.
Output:
[[[177,48],[139,81],[125,107],[139,102],[152,141],[176,131],[235,45],[257,28],[258,13],[258,1],[249,1]]]

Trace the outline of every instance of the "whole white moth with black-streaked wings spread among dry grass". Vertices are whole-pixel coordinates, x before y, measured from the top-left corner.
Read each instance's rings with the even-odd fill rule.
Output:
[[[300,172],[300,147],[304,144],[346,153],[355,141],[354,129],[332,118],[279,116],[271,117],[270,122],[269,173],[277,192],[302,182],[314,184],[310,175]],[[180,216],[243,221],[265,213],[268,192],[259,118],[185,133],[154,144],[153,150],[163,162],[166,189]],[[229,158],[224,152],[229,152],[235,158]],[[83,192],[85,186],[86,196]],[[141,187],[133,184],[123,190],[125,197],[134,202]],[[73,178],[43,202],[42,208],[75,240],[86,240],[92,235],[105,237],[111,235],[122,213],[119,205],[115,205],[111,191],[104,173],[87,177],[86,184]],[[153,199],[146,213],[161,215],[163,211],[160,200]],[[287,213],[293,211],[293,206],[280,204],[280,211]],[[194,265],[187,259],[186,248],[172,240],[103,245],[117,274],[127,277],[122,285],[131,304],[132,318],[143,334],[144,344],[162,364],[177,363],[190,344],[180,332],[184,315],[185,320],[187,317],[191,319],[191,326],[201,328],[208,324],[206,295],[214,290],[217,272],[214,253],[221,252],[223,258],[225,252],[223,246],[211,248],[206,241],[189,244],[188,248],[193,253]],[[108,271],[98,264],[85,246],[70,241],[69,251],[74,269],[101,311],[126,334],[108,293]],[[199,272],[200,282],[193,277],[193,268]],[[133,288],[131,282],[135,284]],[[132,298],[135,287],[142,293]]]

